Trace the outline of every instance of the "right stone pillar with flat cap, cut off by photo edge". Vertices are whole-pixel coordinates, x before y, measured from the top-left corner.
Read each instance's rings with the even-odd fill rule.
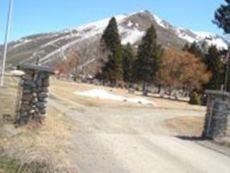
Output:
[[[203,136],[230,137],[230,93],[207,91],[208,103]]]

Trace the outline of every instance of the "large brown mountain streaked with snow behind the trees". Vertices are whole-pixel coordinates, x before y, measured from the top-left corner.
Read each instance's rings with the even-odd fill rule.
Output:
[[[182,48],[187,42],[206,41],[208,45],[216,45],[219,49],[227,49],[227,41],[218,35],[175,27],[148,11],[115,17],[122,44],[131,43],[136,47],[146,29],[153,24],[157,31],[158,41],[164,47]],[[34,63],[39,58],[41,64],[51,66],[60,60],[66,59],[66,53],[69,50],[75,50],[80,58],[80,64],[95,59],[91,63],[95,65],[101,57],[100,51],[98,51],[99,40],[109,20],[110,18],[106,18],[64,31],[27,36],[11,42],[8,64]],[[2,47],[0,47],[1,51]]]

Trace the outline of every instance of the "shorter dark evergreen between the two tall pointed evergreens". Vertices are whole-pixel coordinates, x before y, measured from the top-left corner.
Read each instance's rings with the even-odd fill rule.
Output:
[[[122,48],[122,68],[123,68],[123,80],[128,83],[132,83],[133,77],[133,62],[134,53],[130,44],[123,46]]]

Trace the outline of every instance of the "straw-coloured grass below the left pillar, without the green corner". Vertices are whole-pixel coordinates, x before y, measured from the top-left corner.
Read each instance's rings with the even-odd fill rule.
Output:
[[[0,147],[2,156],[19,161],[21,171],[34,173],[74,172],[69,157],[69,141],[73,124],[63,114],[50,107],[49,114],[41,127],[28,125],[15,128],[1,127]]]

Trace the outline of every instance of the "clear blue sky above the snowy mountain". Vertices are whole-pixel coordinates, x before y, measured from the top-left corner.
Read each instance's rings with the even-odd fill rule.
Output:
[[[0,0],[0,42],[9,0]],[[117,14],[149,10],[170,23],[197,31],[222,34],[212,24],[224,0],[14,0],[10,40],[58,31]]]

